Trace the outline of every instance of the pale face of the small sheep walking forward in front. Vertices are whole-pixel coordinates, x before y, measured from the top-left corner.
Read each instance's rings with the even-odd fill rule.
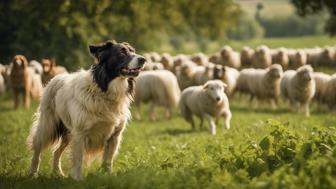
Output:
[[[214,100],[217,103],[220,103],[223,101],[225,94],[224,94],[224,88],[226,87],[226,84],[223,83],[220,80],[212,80],[208,81],[204,85],[204,90],[206,93],[210,96],[212,100]]]

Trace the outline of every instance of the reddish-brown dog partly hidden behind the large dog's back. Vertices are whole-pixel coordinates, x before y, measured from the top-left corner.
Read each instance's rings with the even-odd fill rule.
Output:
[[[53,77],[59,74],[67,73],[67,70],[63,66],[57,66],[54,59],[42,59],[42,83],[45,86]]]

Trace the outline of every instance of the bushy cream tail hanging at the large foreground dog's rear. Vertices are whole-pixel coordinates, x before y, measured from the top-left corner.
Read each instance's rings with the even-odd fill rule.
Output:
[[[29,147],[33,150],[42,150],[55,144],[67,132],[55,110],[55,96],[60,86],[57,80],[52,80],[45,88],[27,139]]]

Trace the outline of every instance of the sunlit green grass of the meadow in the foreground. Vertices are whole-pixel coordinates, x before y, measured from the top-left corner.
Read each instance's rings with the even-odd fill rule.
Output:
[[[263,161],[260,159],[264,155],[250,149],[258,146],[261,140],[265,141],[265,136],[267,140],[273,137],[270,132],[279,125],[285,127],[285,130],[280,129],[282,133],[291,134],[274,143],[274,149],[279,148],[276,145],[292,141],[291,135],[295,135],[298,144],[295,158],[300,157],[299,146],[311,141],[316,128],[326,130],[328,136],[336,140],[336,117],[317,104],[313,105],[312,116],[306,118],[288,112],[287,103],[283,101],[278,110],[270,110],[267,105],[255,108],[247,98],[237,96],[231,100],[232,128],[224,129],[221,122],[216,136],[211,136],[207,129],[191,131],[176,112],[173,119],[166,120],[160,117],[163,110],[159,109],[159,120],[151,122],[146,116],[148,108],[144,108],[143,120],[131,121],[124,134],[114,173],[101,173],[97,158],[85,169],[85,180],[76,182],[51,174],[50,150],[42,156],[39,177],[27,177],[30,153],[26,137],[37,104],[28,111],[15,111],[12,103],[9,94],[0,97],[0,188],[290,188],[316,187],[323,182],[336,186],[328,180],[335,177],[335,171],[333,174],[319,172],[325,167],[330,169],[331,163],[335,165],[335,158],[326,160],[332,157],[330,153],[318,153],[302,164],[297,174],[291,172],[294,160],[291,163],[281,160],[282,166],[272,171],[264,164],[255,166],[256,160]],[[324,143],[333,148],[335,155],[335,143]],[[63,156],[62,161],[66,173],[69,171],[67,157]],[[268,154],[267,157],[273,156]],[[306,169],[311,170],[310,175]],[[254,174],[260,170],[261,173]]]

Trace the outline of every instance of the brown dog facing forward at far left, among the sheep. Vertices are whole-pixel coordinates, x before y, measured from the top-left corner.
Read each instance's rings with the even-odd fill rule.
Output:
[[[10,87],[14,93],[14,107],[18,108],[20,96],[23,97],[24,107],[30,107],[30,98],[39,100],[42,93],[41,77],[28,66],[23,55],[16,55],[12,62],[9,75]]]

